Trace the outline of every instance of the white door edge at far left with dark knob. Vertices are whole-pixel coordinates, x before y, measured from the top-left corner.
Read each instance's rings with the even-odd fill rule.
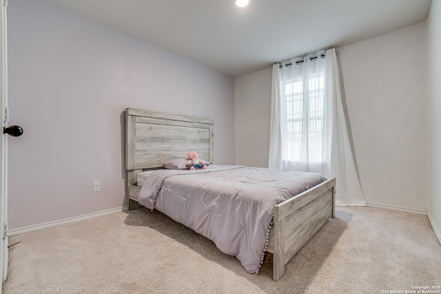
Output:
[[[6,8],[7,1],[1,0],[1,22],[0,22],[0,40],[1,40],[1,58],[0,58],[0,92],[1,92],[1,120],[2,125],[8,127],[8,118],[6,116],[6,110],[8,105],[8,34],[6,30]],[[1,284],[6,280],[8,273],[8,138],[0,134],[0,193],[1,193],[1,208],[0,208],[0,220],[1,220],[1,246],[0,246],[0,279]],[[1,293],[1,288],[0,288]]]

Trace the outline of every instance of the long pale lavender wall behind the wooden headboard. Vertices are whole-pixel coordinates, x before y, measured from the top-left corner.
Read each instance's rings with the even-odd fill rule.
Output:
[[[9,1],[8,27],[24,129],[9,140],[10,229],[126,205],[126,107],[214,119],[214,162],[234,164],[233,78],[44,0]]]

